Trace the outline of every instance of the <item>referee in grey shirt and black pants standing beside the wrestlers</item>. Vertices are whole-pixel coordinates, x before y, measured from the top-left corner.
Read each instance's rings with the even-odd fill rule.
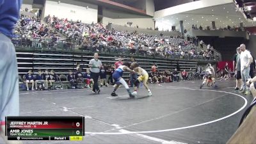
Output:
[[[98,85],[98,79],[100,76],[100,68],[102,68],[102,63],[99,60],[99,54],[97,52],[94,53],[94,58],[90,60],[89,67],[90,67],[91,77],[94,81],[92,92],[99,94],[100,88]]]

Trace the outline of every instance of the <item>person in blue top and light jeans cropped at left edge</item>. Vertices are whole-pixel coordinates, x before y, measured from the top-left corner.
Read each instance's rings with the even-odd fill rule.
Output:
[[[19,116],[19,75],[15,47],[10,38],[19,19],[21,4],[22,0],[0,0],[0,136],[4,143],[10,143],[4,136],[5,116]]]

